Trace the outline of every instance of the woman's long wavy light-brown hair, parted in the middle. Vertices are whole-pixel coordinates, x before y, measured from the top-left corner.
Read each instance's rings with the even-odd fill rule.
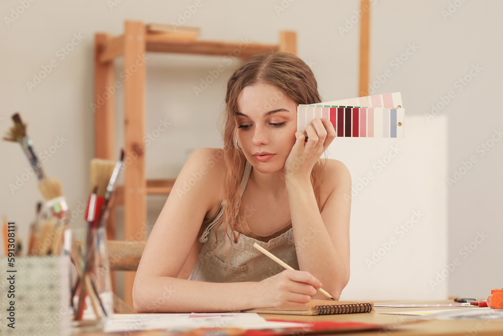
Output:
[[[234,113],[237,111],[237,100],[244,87],[257,83],[274,85],[297,104],[321,102],[313,72],[302,59],[288,52],[251,56],[230,77],[227,82],[226,108],[222,120],[225,207],[222,220],[215,226],[215,235],[218,227],[225,224],[225,233],[234,242],[237,241],[234,228],[242,217],[239,215],[242,212],[240,184],[246,163],[243,152],[235,145],[237,138]],[[325,161],[318,160],[311,172],[311,184],[318,210],[320,210],[320,185]],[[232,229],[233,239],[228,235],[227,228]]]

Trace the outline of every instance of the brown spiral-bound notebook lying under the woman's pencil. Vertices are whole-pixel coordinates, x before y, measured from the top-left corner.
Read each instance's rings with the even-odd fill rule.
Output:
[[[289,308],[253,308],[241,310],[246,313],[285,314],[285,315],[331,315],[370,313],[374,311],[374,303],[368,302],[343,302],[330,300],[311,300],[305,307]]]

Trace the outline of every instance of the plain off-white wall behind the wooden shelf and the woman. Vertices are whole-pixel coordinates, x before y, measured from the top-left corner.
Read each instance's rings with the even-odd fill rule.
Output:
[[[459,0],[451,2],[462,3]],[[9,26],[5,17],[21,6],[19,0],[4,1],[0,9],[3,18],[0,23],[0,131],[5,132],[10,127],[10,116],[15,111],[21,112],[29,123],[28,131],[36,150],[55,150],[44,167],[49,176],[61,180],[72,209],[77,208],[79,201],[86,200],[89,192],[88,166],[93,156],[90,103],[93,100],[94,34],[120,34],[126,19],[171,23],[195,1],[123,0],[112,8],[109,3],[33,2]],[[375,79],[387,69],[391,71],[391,77],[376,93],[402,92],[407,115],[424,116],[431,111],[432,104],[441,102],[441,96],[454,91],[454,98],[440,111],[449,117],[448,176],[452,177],[454,170],[463,167],[463,162],[471,156],[477,161],[449,187],[448,241],[442,244],[448,248],[448,261],[457,257],[462,262],[447,277],[448,293],[485,297],[490,289],[501,287],[503,278],[503,267],[498,261],[502,250],[496,242],[496,237],[503,233],[500,225],[503,214],[499,207],[502,182],[498,171],[503,145],[496,142],[484,155],[477,148],[489,141],[494,129],[499,129],[503,123],[499,98],[503,86],[500,62],[503,25],[499,23],[503,3],[496,0],[465,2],[459,9],[454,7],[456,11],[445,19],[442,11],[449,9],[449,3],[447,0],[373,1],[371,77]],[[278,15],[275,6],[281,8],[282,4],[288,7]],[[359,20],[354,11],[358,9],[357,0],[297,0],[292,3],[286,0],[203,0],[202,6],[185,24],[201,27],[200,38],[212,40],[248,38],[277,43],[280,29],[297,31],[300,57],[311,65],[323,99],[334,100],[357,95]],[[348,26],[349,31],[342,34],[339,27],[344,27],[347,20],[357,24],[352,28]],[[61,59],[56,52],[72,40],[73,34],[84,38]],[[396,63],[391,62],[406,52],[408,44],[418,48],[413,53],[409,49],[412,54],[396,69]],[[171,122],[171,127],[147,149],[147,176],[175,177],[195,148],[221,146],[217,121],[223,109],[224,86],[239,60],[227,64],[220,56],[150,53],[147,56],[146,131],[157,128],[159,119]],[[56,68],[29,91],[26,82],[32,81],[33,74],[40,72],[52,59],[57,62]],[[225,72],[196,97],[193,87],[219,64],[225,66]],[[458,91],[455,82],[469,74],[472,64],[478,64],[482,70]],[[118,73],[121,65],[119,59],[116,63]],[[122,99],[122,92],[119,92],[118,112],[123,107]],[[429,126],[434,127],[439,120],[438,117],[431,119]],[[118,113],[117,125],[121,122]],[[65,141],[56,149],[51,146],[58,136]],[[425,131],[424,137],[429,136]],[[119,132],[117,147],[122,142]],[[27,177],[22,174],[28,164],[16,144],[0,142],[0,153],[0,213],[16,220],[22,226],[20,235],[26,236],[35,203],[41,198],[36,178],[29,177],[18,190],[11,192],[9,184],[15,184],[17,177]],[[357,176],[355,171],[353,178]],[[432,173],[432,179],[437,177]],[[149,197],[150,224],[155,221],[164,199]],[[355,204],[357,202],[356,199]],[[411,204],[410,209],[415,206]],[[73,224],[82,223],[78,220]],[[476,244],[477,233],[488,237]],[[352,235],[353,242],[358,239],[357,234]],[[468,247],[472,253],[460,253],[460,249],[470,243],[475,248],[472,251]],[[477,274],[483,276],[475,276]]]

